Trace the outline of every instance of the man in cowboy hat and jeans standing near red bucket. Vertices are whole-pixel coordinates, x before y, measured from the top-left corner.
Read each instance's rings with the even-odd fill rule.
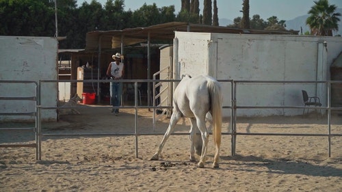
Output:
[[[111,56],[115,61],[110,62],[107,68],[107,76],[114,81],[110,82],[110,102],[113,107],[118,107],[121,105],[121,94],[122,94],[122,82],[117,82],[115,79],[122,79],[124,76],[124,64],[121,62],[121,54],[116,53]],[[119,109],[111,110],[111,113],[115,113],[118,116]]]

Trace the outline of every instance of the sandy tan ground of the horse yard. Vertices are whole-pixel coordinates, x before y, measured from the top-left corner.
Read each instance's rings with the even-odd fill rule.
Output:
[[[134,133],[133,109],[118,117],[109,109],[81,109],[81,115],[62,115],[43,122],[44,134]],[[152,112],[138,111],[139,133],[164,133],[168,118],[152,124]],[[326,118],[238,118],[240,133],[328,133]],[[181,120],[176,133],[189,131]],[[25,126],[25,124],[1,124]],[[229,120],[222,131],[228,133]],[[332,118],[332,133],[342,133],[341,117]],[[1,131],[0,143],[31,143],[34,133]],[[341,191],[342,138],[237,136],[231,156],[231,136],[222,135],[220,168],[211,168],[209,139],[206,167],[190,162],[186,135],[172,135],[159,161],[149,161],[162,135],[43,137],[42,160],[35,148],[1,148],[0,191]],[[198,156],[197,156],[198,159]]]

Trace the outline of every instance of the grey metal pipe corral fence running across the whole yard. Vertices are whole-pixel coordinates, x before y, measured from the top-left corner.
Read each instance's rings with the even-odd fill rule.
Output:
[[[30,113],[30,115],[36,115],[36,127],[34,127],[34,130],[36,131],[36,143],[34,145],[30,145],[30,147],[36,147],[36,158],[38,160],[41,159],[41,141],[42,137],[65,137],[65,136],[84,136],[84,137],[90,137],[90,136],[135,136],[135,156],[138,157],[138,142],[137,139],[140,135],[163,135],[163,133],[139,133],[138,127],[137,127],[137,109],[172,109],[172,106],[155,106],[153,104],[152,106],[138,106],[138,83],[159,83],[159,82],[168,82],[168,83],[177,83],[179,80],[145,80],[145,79],[121,79],[116,80],[123,83],[134,83],[134,105],[133,106],[122,106],[122,107],[111,107],[111,106],[91,106],[92,108],[106,108],[106,109],[135,109],[135,127],[134,133],[74,133],[74,134],[47,134],[42,133],[41,123],[41,113],[42,110],[46,109],[74,109],[74,108],[87,108],[88,106],[84,107],[51,107],[51,106],[42,106],[41,104],[41,86],[44,83],[58,83],[58,82],[70,82],[70,83],[77,83],[77,82],[83,82],[83,83],[109,83],[112,80],[45,80],[45,81],[39,81],[38,83],[38,95],[34,97],[24,97],[24,98],[5,98],[0,97],[0,100],[22,100],[22,99],[29,99],[29,100],[36,100],[36,111]],[[219,80],[219,82],[222,83],[229,83],[231,87],[231,105],[223,106],[223,109],[229,109],[231,111],[230,115],[230,128],[228,129],[227,133],[222,133],[222,135],[231,135],[231,154],[235,155],[235,148],[237,143],[237,135],[269,135],[269,136],[317,136],[317,137],[328,137],[328,154],[329,157],[331,155],[330,145],[331,145],[331,137],[341,137],[342,134],[332,134],[331,133],[331,111],[332,110],[342,110],[342,107],[331,107],[330,106],[330,87],[332,83],[342,83],[342,81],[233,81],[233,80]],[[35,83],[32,81],[0,81],[0,83]],[[327,87],[327,105],[323,107],[311,107],[311,109],[324,109],[327,111],[327,124],[328,124],[328,130],[326,134],[305,134],[305,133],[239,133],[237,132],[237,110],[238,109],[305,109],[304,106],[248,106],[248,105],[237,105],[238,99],[237,98],[237,89],[241,87],[243,84],[248,83],[259,83],[259,84],[316,84],[317,83],[323,83]],[[153,86],[154,87],[154,86]],[[155,87],[154,87],[155,89]],[[155,93],[155,90],[153,91]],[[0,113],[0,115],[9,115],[8,113]],[[155,122],[153,122],[155,123]],[[188,133],[173,133],[172,135],[188,135]],[[1,147],[1,146],[0,146]],[[3,147],[11,147],[11,146],[3,146]],[[22,146],[25,147],[25,146]]]

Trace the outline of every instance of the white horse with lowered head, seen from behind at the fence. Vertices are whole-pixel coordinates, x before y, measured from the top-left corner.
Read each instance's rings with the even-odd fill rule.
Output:
[[[221,125],[222,125],[222,93],[218,81],[209,76],[198,76],[191,78],[189,75],[183,77],[182,81],[174,90],[174,108],[163,140],[161,141],[157,152],[150,160],[158,160],[159,154],[170,134],[174,131],[179,119],[183,116],[191,121],[190,139],[192,141],[190,148],[190,161],[196,161],[194,152],[200,155],[198,167],[205,167],[207,154],[207,144],[209,133],[205,124],[206,114],[211,113],[213,123],[213,140],[215,142],[215,156],[213,167],[219,167],[219,151],[221,144]],[[198,129],[201,138],[197,137]],[[202,145],[204,143],[204,145]],[[199,147],[199,148],[198,148]],[[200,150],[201,148],[201,150]],[[199,153],[200,150],[200,153]]]

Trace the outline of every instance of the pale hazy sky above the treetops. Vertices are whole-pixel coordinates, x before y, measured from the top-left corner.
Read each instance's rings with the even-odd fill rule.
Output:
[[[77,4],[81,5],[84,1],[90,3],[92,0],[77,0]],[[107,0],[96,1],[105,5]],[[315,5],[313,1],[314,0],[250,0],[250,17],[254,14],[259,14],[264,20],[271,16],[277,16],[279,20],[291,20],[297,16],[307,14],[308,10],[311,9],[311,6]],[[141,8],[144,3],[146,3],[146,5],[156,3],[158,8],[174,5],[175,14],[178,14],[181,10],[181,0],[124,0],[124,10],[137,10]],[[242,13],[239,12],[242,10],[242,0],[217,0],[217,3],[219,18],[233,20],[238,16],[242,16]],[[337,8],[342,8],[341,0],[329,0],[329,3],[330,5],[336,5]],[[202,4],[203,0],[200,0],[200,12],[203,11]]]

